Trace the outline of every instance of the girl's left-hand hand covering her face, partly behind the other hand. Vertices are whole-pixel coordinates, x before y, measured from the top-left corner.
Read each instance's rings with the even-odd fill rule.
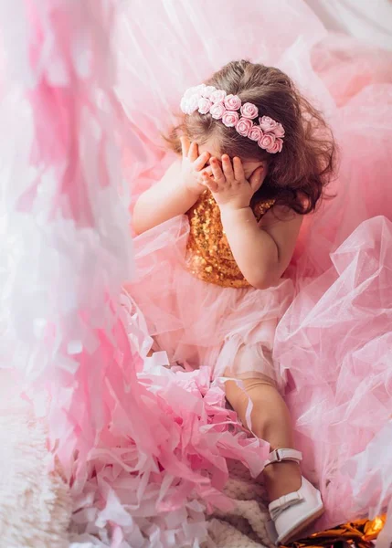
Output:
[[[199,155],[196,142],[189,142],[186,137],[181,137],[181,147],[183,152],[182,176],[185,186],[196,195],[201,195],[206,187],[203,185],[202,174],[207,168],[207,162],[210,158],[209,153]]]

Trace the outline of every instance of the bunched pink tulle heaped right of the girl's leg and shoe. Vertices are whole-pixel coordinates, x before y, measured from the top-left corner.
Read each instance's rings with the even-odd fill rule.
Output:
[[[333,267],[300,291],[275,336],[326,525],[382,511],[392,495],[391,250],[392,223],[364,222],[334,252]]]

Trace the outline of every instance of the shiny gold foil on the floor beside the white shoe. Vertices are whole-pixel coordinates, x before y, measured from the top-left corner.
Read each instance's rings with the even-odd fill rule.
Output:
[[[374,520],[356,520],[333,529],[314,532],[307,538],[287,544],[281,548],[374,548],[376,540],[387,520],[386,515]]]

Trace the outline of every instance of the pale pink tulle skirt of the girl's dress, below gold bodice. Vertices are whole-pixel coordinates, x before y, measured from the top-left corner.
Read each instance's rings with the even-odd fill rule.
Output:
[[[127,290],[143,312],[154,349],[171,363],[207,365],[212,378],[270,377],[284,386],[273,364],[276,327],[293,298],[291,279],[269,290],[223,288],[186,269],[189,234],[178,216],[134,239],[137,275]]]

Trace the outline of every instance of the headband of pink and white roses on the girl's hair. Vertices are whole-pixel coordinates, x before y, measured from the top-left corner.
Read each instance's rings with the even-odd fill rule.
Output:
[[[239,135],[257,141],[267,153],[281,153],[284,137],[281,123],[272,120],[270,116],[262,116],[259,124],[254,123],[253,120],[259,116],[259,109],[253,103],[242,104],[238,95],[228,95],[226,91],[217,90],[214,86],[200,84],[185,91],[181,110],[185,114],[209,112],[227,128],[236,128]]]

